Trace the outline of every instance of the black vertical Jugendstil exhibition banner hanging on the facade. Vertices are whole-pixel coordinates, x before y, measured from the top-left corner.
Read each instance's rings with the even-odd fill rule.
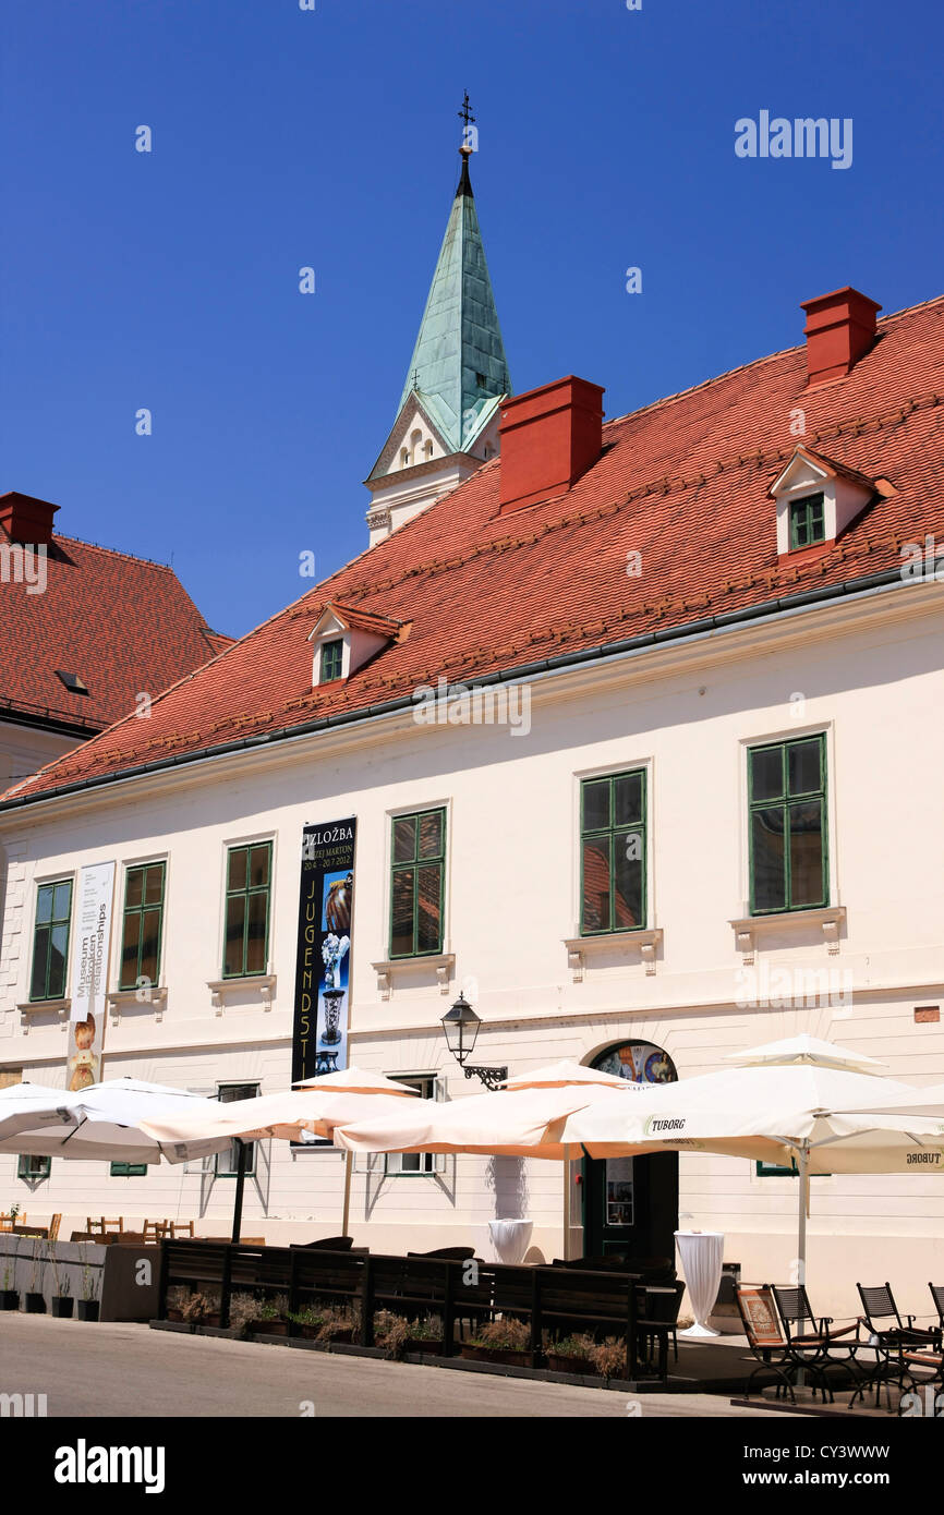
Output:
[[[347,1067],[356,830],[352,815],[302,832],[292,1083]]]

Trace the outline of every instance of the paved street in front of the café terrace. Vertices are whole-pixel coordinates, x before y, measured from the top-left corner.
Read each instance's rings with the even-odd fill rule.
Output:
[[[306,1400],[318,1418],[627,1415],[626,1395],[600,1389],[20,1314],[0,1314],[0,1392],[45,1394],[50,1417],[73,1420],[285,1417]],[[645,1417],[735,1413],[720,1395],[645,1394],[641,1404]]]

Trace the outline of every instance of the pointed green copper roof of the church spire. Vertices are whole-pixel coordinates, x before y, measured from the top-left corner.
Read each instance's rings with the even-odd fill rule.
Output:
[[[468,177],[470,150],[453,200],[420,335],[397,414],[412,391],[441,427],[453,451],[477,435],[483,412],[511,394],[495,297]]]

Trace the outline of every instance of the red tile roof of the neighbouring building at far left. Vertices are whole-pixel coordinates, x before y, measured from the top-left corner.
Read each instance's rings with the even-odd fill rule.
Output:
[[[0,527],[0,545],[8,541]],[[156,698],[232,645],[164,564],[55,533],[45,574],[42,594],[27,594],[12,567],[0,582],[0,717],[100,732],[133,711],[139,692]],[[89,692],[70,694],[56,670]]]

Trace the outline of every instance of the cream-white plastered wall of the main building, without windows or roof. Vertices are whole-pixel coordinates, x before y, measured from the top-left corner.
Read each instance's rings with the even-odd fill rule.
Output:
[[[5,954],[29,939],[36,879],[114,857],[118,912],[124,864],[168,856],[165,1015],[156,1024],[148,1006],[135,1006],[109,1024],[106,1074],[283,1088],[302,826],[356,814],[350,1050],[367,1068],[442,1070],[449,1097],[476,1092],[439,1027],[465,985],[486,1023],[476,1060],[514,1071],[564,1056],[586,1060],[611,1042],[639,1039],[664,1047],[685,1077],[718,1067],[729,1051],[809,1030],[879,1057],[894,1077],[939,1082],[944,1027],[917,1024],[914,1009],[944,1003],[944,595],[932,586],[915,592],[920,603],[896,592],[867,608],[820,609],[535,683],[529,735],[403,718],[153,776],[20,820],[0,817],[0,844],[17,870]],[[832,903],[847,915],[835,956],[814,924],[758,938],[756,965],[832,968],[850,1003],[738,1006],[746,980],[730,921],[746,915],[746,744],[808,729],[827,732]],[[656,971],[635,951],[614,953],[588,959],[574,982],[564,939],[576,935],[579,776],[641,762],[652,774],[649,924],[664,930]],[[435,973],[420,967],[395,977],[383,998],[371,964],[388,956],[389,812],[433,803],[449,806],[445,950],[456,954],[455,974],[444,995]],[[224,851],[256,836],[276,841],[273,1007],[262,1009],[258,991],[233,991],[215,1014],[206,985],[220,977]],[[30,1017],[24,1035],[14,1009],[26,998],[27,959],[20,950],[6,967],[0,961],[0,1067],[62,1082],[67,1036],[58,1018]],[[111,983],[115,965],[117,932]],[[171,1168],[147,1180],[74,1168],[56,1162],[52,1180],[26,1195],[14,1160],[0,1159],[0,1204],[15,1197],[27,1212],[82,1220],[198,1217],[205,1233],[224,1232],[227,1180],[205,1183],[202,1194],[198,1176]],[[358,1174],[355,1233],[374,1250],[477,1239],[497,1203],[483,1170],[461,1157],[438,1177]],[[245,1233],[270,1241],[333,1233],[341,1177],[335,1154],[292,1156],[273,1144],[267,1186],[247,1197]],[[680,1183],[680,1210],[695,1226],[724,1229],[729,1260],[741,1262],[746,1277],[788,1276],[791,1180],[758,1179],[747,1162],[682,1157]],[[532,1162],[527,1185],[535,1247],[553,1256],[562,1174]],[[871,1282],[902,1280],[906,1307],[927,1314],[926,1280],[944,1274],[939,1179],[814,1180],[815,1307],[853,1314],[864,1267],[876,1274]]]

